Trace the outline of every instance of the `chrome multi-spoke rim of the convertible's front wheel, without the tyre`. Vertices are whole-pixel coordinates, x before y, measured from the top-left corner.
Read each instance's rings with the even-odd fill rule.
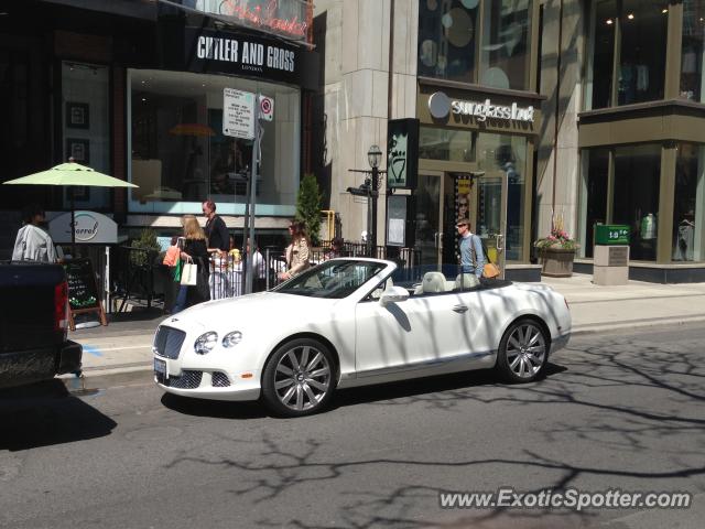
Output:
[[[294,411],[316,408],[330,389],[330,364],[317,348],[304,345],[281,356],[274,370],[279,401]]]

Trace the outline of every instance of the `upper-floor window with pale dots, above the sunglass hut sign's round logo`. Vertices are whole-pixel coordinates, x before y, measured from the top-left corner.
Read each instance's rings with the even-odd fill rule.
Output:
[[[419,75],[473,83],[479,0],[421,0]]]

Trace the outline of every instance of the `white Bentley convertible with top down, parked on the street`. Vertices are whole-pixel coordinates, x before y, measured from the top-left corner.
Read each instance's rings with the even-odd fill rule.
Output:
[[[256,400],[280,415],[323,409],[336,388],[496,368],[540,377],[568,342],[563,295],[489,280],[469,290],[440,272],[393,285],[397,264],[334,259],[274,290],[193,306],[154,336],[156,384],[171,393]]]

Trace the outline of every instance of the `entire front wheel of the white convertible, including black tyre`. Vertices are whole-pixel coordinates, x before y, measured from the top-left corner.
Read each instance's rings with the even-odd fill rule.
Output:
[[[297,338],[269,358],[262,375],[262,398],[278,415],[308,415],[326,406],[335,386],[335,364],[328,348],[316,339]]]

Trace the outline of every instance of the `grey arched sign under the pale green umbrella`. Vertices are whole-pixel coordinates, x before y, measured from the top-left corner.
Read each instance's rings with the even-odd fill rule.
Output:
[[[56,244],[70,240],[70,213],[64,213],[48,223],[48,233]],[[74,233],[76,244],[115,245],[118,242],[118,225],[110,217],[96,212],[75,212]]]

